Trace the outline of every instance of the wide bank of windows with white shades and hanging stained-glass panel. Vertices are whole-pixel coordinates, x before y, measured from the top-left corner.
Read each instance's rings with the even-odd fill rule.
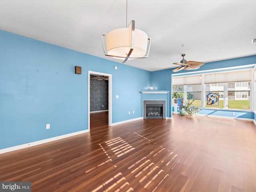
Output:
[[[231,69],[230,71],[217,70],[216,72],[206,72],[203,76],[198,72],[194,74],[192,72],[173,74],[172,84],[173,87],[182,87],[181,90],[176,91],[180,94],[183,92],[184,101],[186,99],[194,100],[192,104],[194,106],[250,110],[253,67],[242,67],[239,70]],[[198,84],[198,80],[200,80],[200,83],[204,82],[204,84]]]

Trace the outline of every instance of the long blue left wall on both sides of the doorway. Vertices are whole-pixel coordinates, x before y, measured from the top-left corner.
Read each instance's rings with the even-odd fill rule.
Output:
[[[112,123],[140,117],[150,72],[1,30],[0,42],[0,149],[87,130],[88,71],[112,74]]]

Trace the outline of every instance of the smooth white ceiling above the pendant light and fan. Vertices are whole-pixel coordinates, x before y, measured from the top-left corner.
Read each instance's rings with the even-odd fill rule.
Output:
[[[256,55],[256,0],[128,0],[127,22],[148,34],[148,58],[125,64],[148,71],[186,60]],[[104,55],[101,36],[126,27],[126,0],[0,0],[0,30],[79,52]],[[182,46],[184,44],[184,46]],[[176,66],[175,66],[176,67]]]

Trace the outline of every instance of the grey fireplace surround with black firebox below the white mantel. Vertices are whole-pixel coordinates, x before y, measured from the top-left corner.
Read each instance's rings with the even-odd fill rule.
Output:
[[[166,119],[166,100],[143,100],[144,119]]]

